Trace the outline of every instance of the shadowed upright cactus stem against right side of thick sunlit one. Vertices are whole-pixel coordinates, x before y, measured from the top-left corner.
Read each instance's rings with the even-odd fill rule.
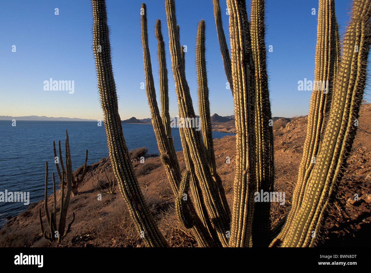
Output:
[[[255,131],[257,191],[272,192],[274,183],[273,122],[270,111],[265,49],[265,2],[251,1],[251,47],[255,64]],[[270,233],[270,202],[255,204],[253,246],[268,246]]]

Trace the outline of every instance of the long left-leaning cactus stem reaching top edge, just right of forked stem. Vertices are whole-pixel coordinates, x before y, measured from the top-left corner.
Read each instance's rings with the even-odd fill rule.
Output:
[[[169,30],[169,46],[175,80],[175,91],[178,98],[179,117],[184,119],[196,118],[190,90],[185,79],[185,70],[181,65],[181,47],[179,33],[177,32],[174,0],[165,1],[165,10]],[[229,231],[230,216],[225,195],[221,192],[222,189],[216,186],[216,178],[211,175],[206,157],[206,149],[200,131],[197,131],[194,127],[183,127],[182,130],[187,146],[190,148],[190,156],[194,164],[210,221],[215,227],[221,244],[226,246],[227,238],[225,234]]]

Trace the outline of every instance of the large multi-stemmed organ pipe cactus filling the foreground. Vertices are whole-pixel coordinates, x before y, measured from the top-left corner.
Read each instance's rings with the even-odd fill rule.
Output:
[[[114,173],[138,231],[145,230],[148,246],[167,246],[148,210],[128,160],[118,115],[112,75],[105,2],[93,0],[93,48],[98,87],[105,113],[105,128]],[[155,24],[158,41],[161,115],[157,106],[147,34],[147,9],[141,6],[141,32],[146,94],[160,157],[174,195],[178,218],[191,229],[199,246],[315,246],[313,231],[321,227],[344,171],[357,127],[359,105],[365,87],[371,40],[371,0],[354,0],[352,19],[343,42],[340,60],[334,0],[319,0],[316,48],[316,81],[329,81],[329,91],[313,90],[308,131],[298,183],[287,218],[270,230],[268,204],[255,204],[259,190],[273,190],[273,132],[266,72],[265,1],[252,0],[251,21],[244,0],[227,0],[231,56],[221,27],[219,1],[213,0],[214,16],[227,80],[234,99],[236,122],[236,174],[232,213],[221,179],[216,172],[211,137],[203,20],[198,24],[196,68],[201,129],[181,127],[180,137],[187,170],[180,172],[171,141],[168,114],[168,82],[161,22]],[[178,98],[179,117],[196,118],[185,79],[185,58],[174,0],[165,0],[170,57]],[[98,51],[101,46],[102,51]],[[358,51],[355,52],[357,46]],[[314,165],[308,165],[310,157]],[[188,186],[192,198],[183,202]],[[230,238],[228,236],[230,234]]]

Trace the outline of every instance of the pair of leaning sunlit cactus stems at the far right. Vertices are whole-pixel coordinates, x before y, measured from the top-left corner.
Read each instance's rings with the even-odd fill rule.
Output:
[[[320,0],[319,7],[315,75],[331,85],[329,90],[313,90],[319,94],[311,98],[315,110],[308,117],[293,206],[272,246],[315,246],[317,237],[312,235],[321,230],[357,130],[371,43],[371,0],[354,0],[341,57],[334,1]],[[323,98],[327,91],[331,99]],[[313,166],[308,166],[308,157],[315,157]]]

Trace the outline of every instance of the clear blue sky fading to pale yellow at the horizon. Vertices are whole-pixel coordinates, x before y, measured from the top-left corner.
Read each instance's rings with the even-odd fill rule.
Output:
[[[145,90],[139,0],[107,0],[112,65],[121,119],[150,117]],[[158,62],[156,19],[162,22],[167,54],[170,115],[177,116],[177,98],[168,47],[164,0],[147,4],[148,34],[157,99]],[[340,33],[349,20],[350,1],[336,0]],[[249,1],[247,1],[249,5]],[[229,44],[226,1],[220,1]],[[175,1],[180,42],[187,45],[186,75],[197,106],[195,45],[198,21],[206,23],[206,60],[211,115],[234,114],[233,97],[217,40],[211,0]],[[59,15],[55,15],[55,8]],[[312,8],[316,15],[312,15]],[[92,51],[93,17],[88,0],[3,1],[0,9],[0,115],[102,119],[95,60]],[[298,91],[298,81],[314,77],[318,0],[267,0],[266,45],[273,116],[300,116],[309,111],[311,91]],[[16,52],[12,52],[12,46]],[[74,92],[45,91],[44,81],[74,81]],[[369,97],[366,97],[369,99]],[[160,105],[160,104],[159,104]]]

